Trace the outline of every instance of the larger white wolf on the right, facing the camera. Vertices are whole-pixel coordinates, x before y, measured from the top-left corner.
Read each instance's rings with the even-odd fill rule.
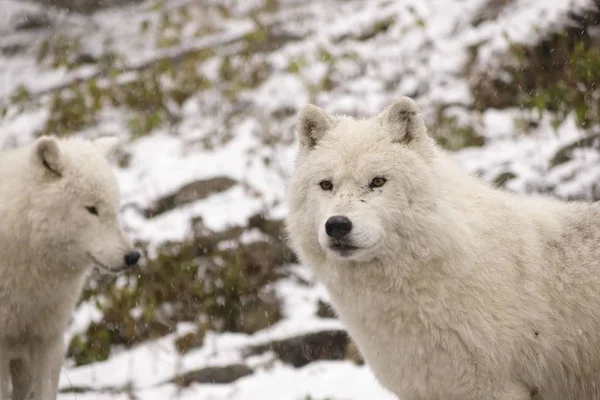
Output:
[[[402,97],[308,105],[287,229],[401,400],[600,399],[600,206],[470,177]]]

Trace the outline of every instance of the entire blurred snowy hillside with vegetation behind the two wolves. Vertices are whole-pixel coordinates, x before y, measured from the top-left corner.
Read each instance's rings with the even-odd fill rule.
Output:
[[[282,218],[308,102],[413,97],[471,173],[600,197],[600,1],[0,0],[0,148],[117,135],[144,249],[94,273],[60,400],[392,400]]]

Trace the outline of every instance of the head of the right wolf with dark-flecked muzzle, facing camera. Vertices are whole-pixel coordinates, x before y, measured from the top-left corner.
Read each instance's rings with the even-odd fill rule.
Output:
[[[308,105],[298,130],[286,225],[301,258],[360,263],[427,251],[435,145],[414,101],[401,97],[362,120]]]

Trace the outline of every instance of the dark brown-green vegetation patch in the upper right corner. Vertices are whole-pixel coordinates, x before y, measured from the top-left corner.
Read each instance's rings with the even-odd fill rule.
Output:
[[[600,9],[571,14],[567,28],[534,45],[513,44],[512,62],[493,78],[474,80],[476,109],[522,107],[537,111],[538,118],[550,115],[555,127],[573,114],[582,129],[598,126],[600,43],[589,29],[597,27],[599,15]]]

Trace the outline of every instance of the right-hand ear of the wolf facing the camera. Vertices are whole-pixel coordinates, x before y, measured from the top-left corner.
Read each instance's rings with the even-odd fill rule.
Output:
[[[396,99],[383,113],[394,143],[409,144],[427,137],[421,110],[411,98]]]

